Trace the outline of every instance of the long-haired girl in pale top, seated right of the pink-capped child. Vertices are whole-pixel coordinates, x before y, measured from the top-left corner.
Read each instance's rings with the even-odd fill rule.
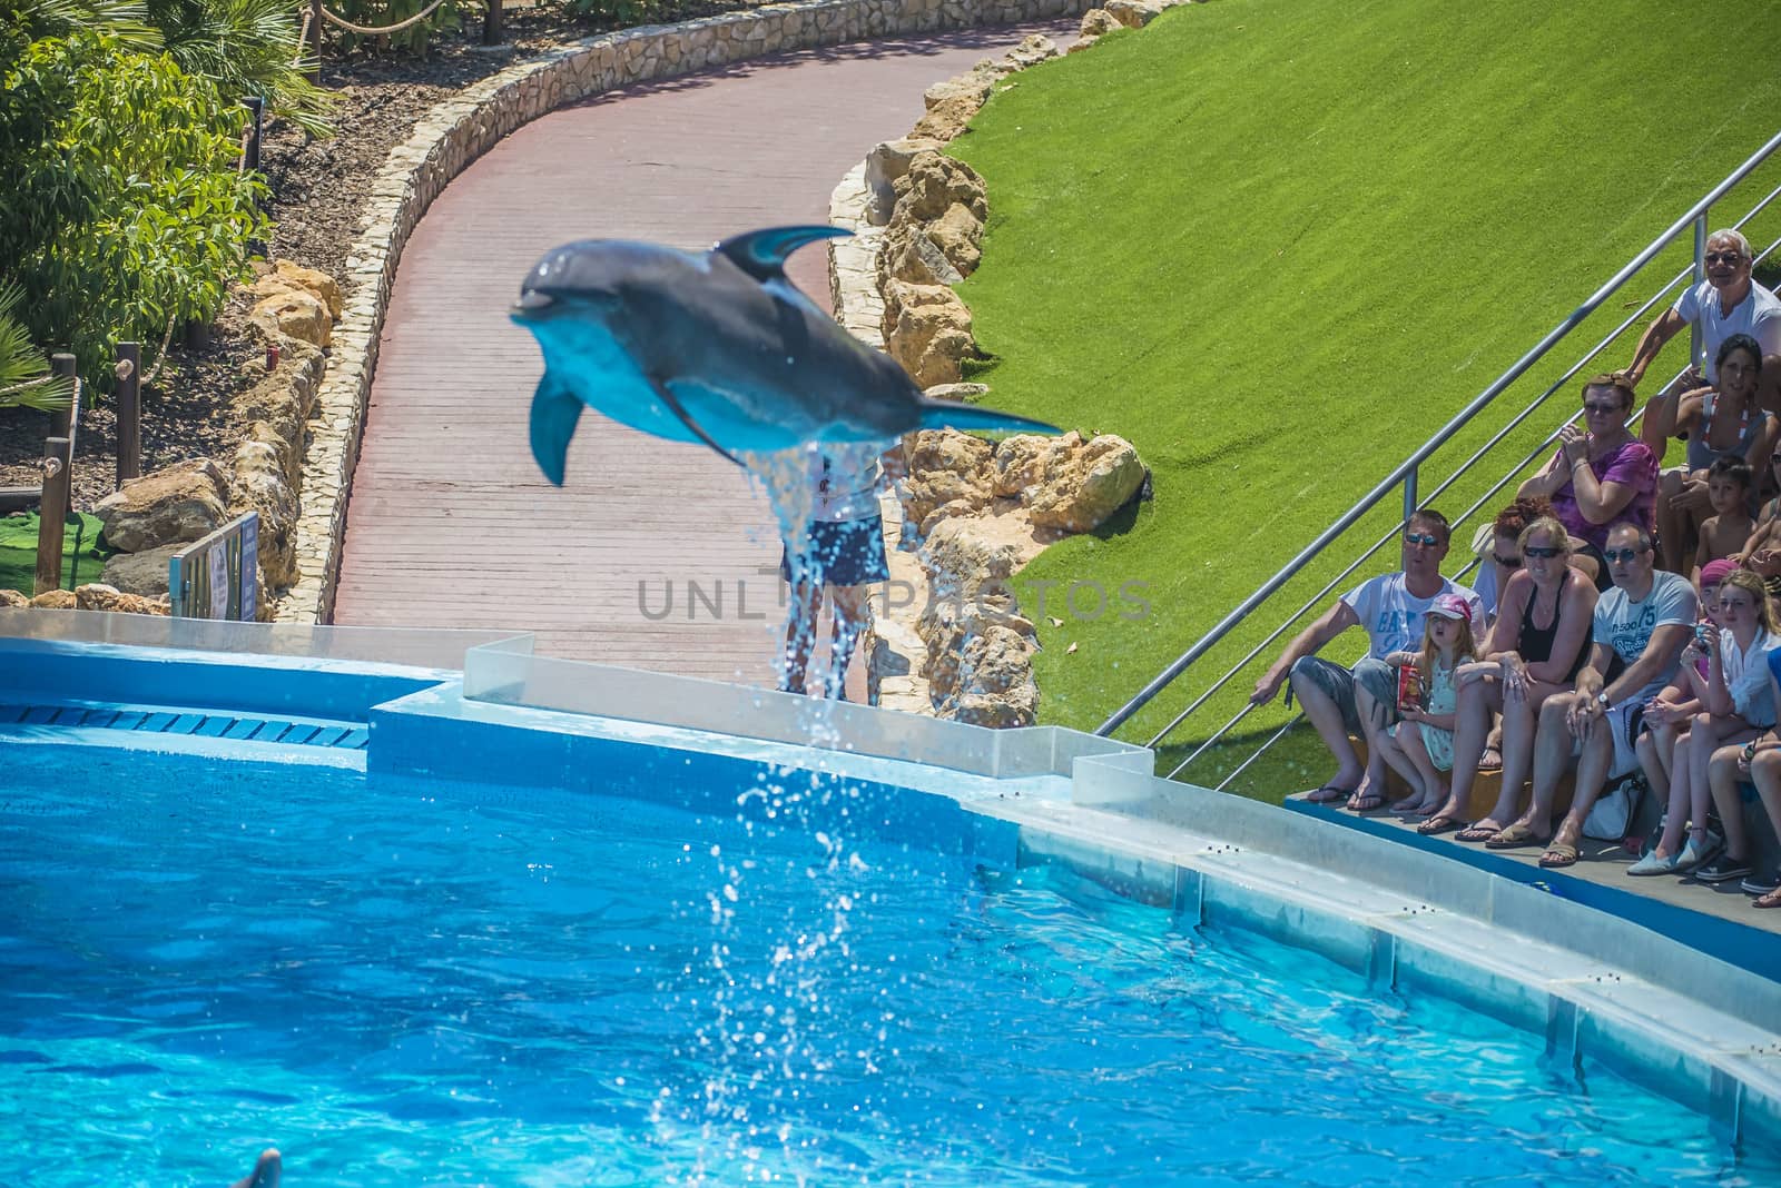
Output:
[[[1719,585],[1719,622],[1717,631],[1701,631],[1681,653],[1681,676],[1694,686],[1701,713],[1676,740],[1663,836],[1626,870],[1628,875],[1681,873],[1713,855],[1717,847],[1706,832],[1713,751],[1756,738],[1758,731],[1774,726],[1776,704],[1765,654],[1777,642],[1776,619],[1761,578],[1749,569],[1726,574]],[[1704,679],[1690,663],[1697,656],[1706,660]],[[1688,839],[1679,845],[1683,827]]]

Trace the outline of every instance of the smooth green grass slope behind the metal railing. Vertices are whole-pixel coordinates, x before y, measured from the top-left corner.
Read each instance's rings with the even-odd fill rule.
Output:
[[[1029,614],[1037,583],[1056,583],[1040,617],[1042,720],[1094,729],[1774,135],[1781,71],[1761,64],[1777,60],[1774,0],[1215,0],[1017,75],[951,149],[990,194],[983,265],[960,286],[994,356],[974,379],[990,404],[1131,439],[1156,478],[1152,503],[1022,574]],[[1713,226],[1777,181],[1781,160]],[[1781,208],[1754,231],[1781,231]],[[1589,343],[1687,251],[1635,277],[1630,306],[1590,318]],[[1583,338],[1437,455],[1421,489]],[[1592,370],[1622,366],[1635,338]],[[1683,363],[1672,343],[1658,366]],[[1574,405],[1573,386],[1510,437],[1512,455],[1435,503],[1457,516]],[[1341,562],[1240,628],[1215,670],[1398,514],[1387,498]],[[1095,615],[1085,585],[1072,606],[1070,582],[1113,601]],[[1259,672],[1188,733],[1229,718]],[[1177,683],[1120,736],[1149,740],[1208,679]],[[1284,720],[1275,708],[1241,729]],[[1240,786],[1279,797],[1320,783],[1314,738],[1284,756]]]

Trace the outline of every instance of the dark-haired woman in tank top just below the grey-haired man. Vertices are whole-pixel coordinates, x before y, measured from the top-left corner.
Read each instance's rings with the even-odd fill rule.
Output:
[[[1719,343],[1712,388],[1658,397],[1646,407],[1640,432],[1658,459],[1671,434],[1688,439],[1687,466],[1665,471],[1658,482],[1658,551],[1671,573],[1687,573],[1690,542],[1713,512],[1706,494],[1708,468],[1722,457],[1740,457],[1761,477],[1776,450],[1781,421],[1756,405],[1761,370],[1763,352],[1756,340],[1733,334]]]

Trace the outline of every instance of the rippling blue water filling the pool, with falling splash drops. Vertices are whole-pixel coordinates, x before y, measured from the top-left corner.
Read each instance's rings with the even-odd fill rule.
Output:
[[[0,1184],[1781,1183],[1535,1037],[1045,868],[14,747]],[[844,822],[839,813],[828,815]]]

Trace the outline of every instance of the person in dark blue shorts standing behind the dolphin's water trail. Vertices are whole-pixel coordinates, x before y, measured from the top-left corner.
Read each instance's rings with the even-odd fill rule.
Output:
[[[878,510],[878,484],[883,482],[878,455],[880,448],[873,443],[823,445],[809,452],[812,509],[801,580],[793,578],[791,555],[780,557],[780,576],[793,583],[780,692],[805,692],[816,621],[828,590],[834,630],[823,695],[848,697],[848,662],[871,624],[867,587],[890,580],[885,525]]]

